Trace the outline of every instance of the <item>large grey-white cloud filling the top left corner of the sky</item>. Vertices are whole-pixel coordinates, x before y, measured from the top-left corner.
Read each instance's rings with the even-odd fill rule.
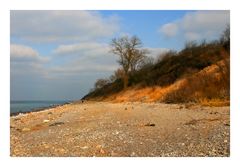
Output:
[[[118,29],[116,16],[94,11],[11,11],[11,36],[32,42],[83,41]]]

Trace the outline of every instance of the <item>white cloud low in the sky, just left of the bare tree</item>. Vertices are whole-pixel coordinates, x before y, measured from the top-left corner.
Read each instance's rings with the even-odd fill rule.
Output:
[[[61,66],[54,66],[50,71],[54,75],[113,72],[118,68],[117,56],[112,55],[109,50],[108,44],[98,42],[60,45],[53,50],[54,59],[70,59],[71,61]]]

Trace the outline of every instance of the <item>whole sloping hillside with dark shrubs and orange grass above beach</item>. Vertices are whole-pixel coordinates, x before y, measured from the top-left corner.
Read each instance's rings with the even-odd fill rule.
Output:
[[[225,44],[212,42],[168,52],[161,60],[146,64],[129,77],[107,83],[86,95],[86,100],[114,102],[217,102],[229,104],[230,54]]]

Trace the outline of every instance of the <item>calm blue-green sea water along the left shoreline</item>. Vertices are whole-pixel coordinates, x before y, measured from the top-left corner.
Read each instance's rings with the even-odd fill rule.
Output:
[[[50,107],[53,105],[64,104],[69,101],[11,101],[10,112],[28,112],[32,110],[41,109],[44,107]]]

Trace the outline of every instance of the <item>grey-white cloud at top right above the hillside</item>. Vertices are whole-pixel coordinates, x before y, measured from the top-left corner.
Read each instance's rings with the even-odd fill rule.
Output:
[[[212,40],[219,37],[227,24],[230,24],[229,11],[197,11],[161,26],[159,31],[168,38],[183,35],[186,40]]]

